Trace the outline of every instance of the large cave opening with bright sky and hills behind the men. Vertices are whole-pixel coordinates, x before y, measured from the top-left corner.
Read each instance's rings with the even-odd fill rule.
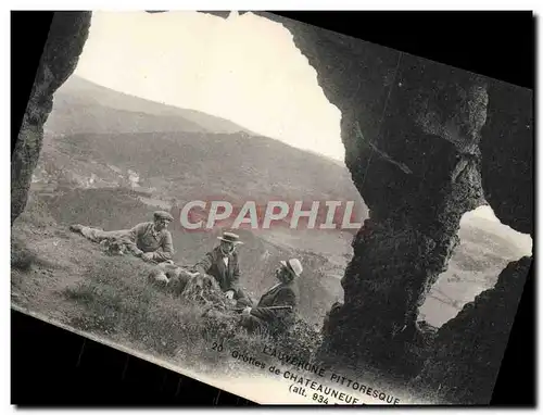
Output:
[[[62,163],[74,187],[126,187],[146,193],[139,199],[150,209],[217,199],[239,208],[248,200],[352,201],[352,222],[361,223],[367,209],[344,164],[340,120],[279,23],[235,12],[93,12],[76,71],[55,93],[46,125],[52,143],[41,159]],[[65,162],[60,154],[71,151],[77,158]],[[36,180],[49,178],[38,168]],[[141,206],[104,224],[99,206],[74,203],[71,222],[113,228],[141,221]],[[257,276],[249,290],[260,297],[279,260],[300,257],[307,275],[301,310],[321,323],[343,299],[356,230],[240,230],[241,267]],[[174,226],[180,262],[194,262],[219,231]]]

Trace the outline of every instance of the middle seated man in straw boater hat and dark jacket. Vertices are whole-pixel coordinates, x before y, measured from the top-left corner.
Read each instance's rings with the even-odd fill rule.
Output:
[[[230,300],[236,300],[238,305],[248,305],[251,301],[239,287],[239,262],[236,248],[243,244],[239,236],[231,232],[224,232],[220,244],[213,251],[207,252],[193,267],[197,274],[209,274],[213,276],[225,295]]]

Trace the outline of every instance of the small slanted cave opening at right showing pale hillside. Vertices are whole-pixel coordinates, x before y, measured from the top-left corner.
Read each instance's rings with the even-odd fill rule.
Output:
[[[455,317],[468,302],[493,288],[509,262],[531,255],[532,239],[500,222],[489,205],[466,212],[459,244],[419,309],[419,320],[434,327]]]

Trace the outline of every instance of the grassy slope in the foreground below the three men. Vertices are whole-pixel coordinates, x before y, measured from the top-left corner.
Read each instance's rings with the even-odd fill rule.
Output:
[[[237,350],[268,366],[278,365],[277,359],[261,353],[264,344],[274,344],[272,339],[249,337],[239,329],[235,317],[202,317],[200,306],[148,286],[149,265],[131,256],[104,255],[97,244],[56,223],[54,215],[34,194],[13,227],[12,303],[207,379],[222,375],[242,377],[249,367],[228,359],[226,352],[213,351],[214,341],[224,342],[226,351]],[[318,332],[300,326],[275,344],[307,361],[319,341]],[[357,377],[361,373],[368,385],[400,390],[369,367],[358,366]],[[354,376],[346,372],[344,375]]]

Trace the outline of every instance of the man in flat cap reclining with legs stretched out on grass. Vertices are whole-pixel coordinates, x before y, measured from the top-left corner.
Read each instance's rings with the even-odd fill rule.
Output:
[[[72,225],[70,229],[93,242],[118,241],[125,244],[134,255],[147,262],[172,262],[174,243],[172,234],[166,228],[174,217],[163,211],[154,212],[153,217],[153,222],[143,222],[131,229],[104,231],[83,225]]]

